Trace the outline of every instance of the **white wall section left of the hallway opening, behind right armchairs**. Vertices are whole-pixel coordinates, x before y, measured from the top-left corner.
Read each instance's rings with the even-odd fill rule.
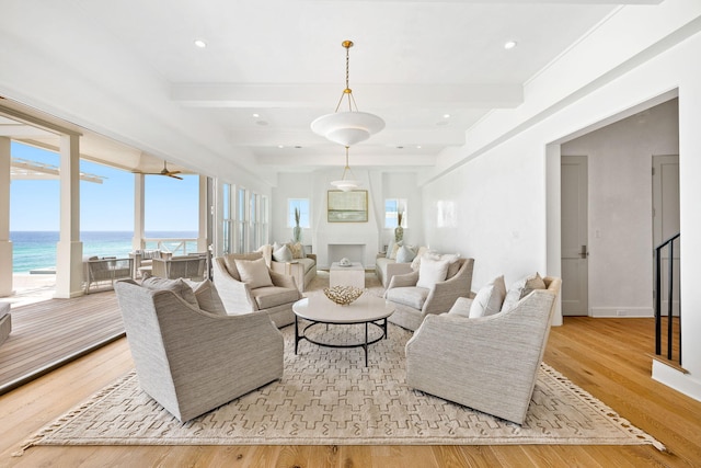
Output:
[[[543,148],[515,139],[424,187],[426,240],[475,259],[473,290],[501,274],[508,284],[545,273],[543,174]]]

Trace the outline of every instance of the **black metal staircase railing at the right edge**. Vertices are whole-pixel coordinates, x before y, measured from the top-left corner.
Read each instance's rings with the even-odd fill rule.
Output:
[[[673,359],[673,344],[674,344],[674,292],[675,286],[677,290],[679,290],[679,279],[675,282],[675,240],[680,237],[680,233],[677,233],[659,246],[655,248],[655,354],[658,356],[662,355],[662,252],[665,248],[668,248],[669,251],[669,260],[668,260],[668,273],[667,273],[667,358]],[[678,320],[681,322],[681,293],[679,292],[679,318]],[[681,365],[681,333],[678,336],[678,347],[679,347],[679,365]]]

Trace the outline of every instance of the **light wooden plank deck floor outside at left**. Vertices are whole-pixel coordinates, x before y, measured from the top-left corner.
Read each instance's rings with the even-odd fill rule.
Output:
[[[21,306],[11,313],[12,333],[0,346],[0,395],[124,336],[112,290]]]

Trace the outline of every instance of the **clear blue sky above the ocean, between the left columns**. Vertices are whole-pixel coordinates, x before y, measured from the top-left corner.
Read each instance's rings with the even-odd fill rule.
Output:
[[[59,164],[56,152],[12,141],[13,158]],[[102,184],[80,183],[81,231],[134,230],[134,174],[80,161],[81,172],[103,175]],[[146,176],[146,230],[197,231],[197,175],[184,180]],[[59,230],[59,182],[15,180],[10,184],[11,231]]]

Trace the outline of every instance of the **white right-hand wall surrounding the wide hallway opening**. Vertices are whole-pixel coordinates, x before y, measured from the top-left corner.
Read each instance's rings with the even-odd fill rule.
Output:
[[[681,1],[665,2],[665,5],[682,5],[679,9],[687,11],[693,7],[693,15],[687,15],[686,21],[696,20],[681,27],[678,35],[664,37],[642,56],[621,64],[609,79],[593,81],[578,92],[562,96],[545,113],[527,113],[520,124],[512,119],[501,134],[495,133],[497,124],[489,118],[484,122],[484,134],[481,134],[480,125],[470,129],[470,142],[448,155],[448,159],[453,160],[461,153],[464,162],[453,164],[455,169],[450,170],[447,165],[450,161],[444,161],[445,174],[438,173],[424,187],[426,239],[432,247],[456,249],[475,258],[473,289],[496,274],[504,273],[508,282],[533,270],[543,271],[545,266],[558,264],[559,259],[548,258],[548,254],[555,254],[553,252],[559,255],[559,248],[548,246],[552,239],[558,239],[549,236],[548,227],[558,226],[560,217],[555,209],[559,204],[545,198],[547,190],[551,189],[549,171],[553,170],[547,159],[548,145],[568,140],[570,135],[678,88],[680,216],[685,252],[681,263],[682,365],[689,374],[675,374],[677,378],[674,379],[665,374],[658,378],[701,400],[701,341],[697,340],[701,334],[701,290],[696,287],[701,279],[701,242],[698,241],[701,239],[701,210],[698,209],[701,199],[701,184],[698,183],[701,176],[701,67],[697,59],[701,52],[700,5]],[[656,13],[659,11],[655,10]],[[571,75],[581,73],[598,58],[581,57],[577,67],[570,70]],[[514,111],[514,114],[519,113],[522,110]],[[475,141],[482,146],[475,148]],[[559,170],[559,167],[554,168]],[[455,227],[438,227],[429,217],[445,199],[459,206]],[[646,241],[646,244],[651,246],[651,242]],[[550,270],[548,273],[560,272]]]

